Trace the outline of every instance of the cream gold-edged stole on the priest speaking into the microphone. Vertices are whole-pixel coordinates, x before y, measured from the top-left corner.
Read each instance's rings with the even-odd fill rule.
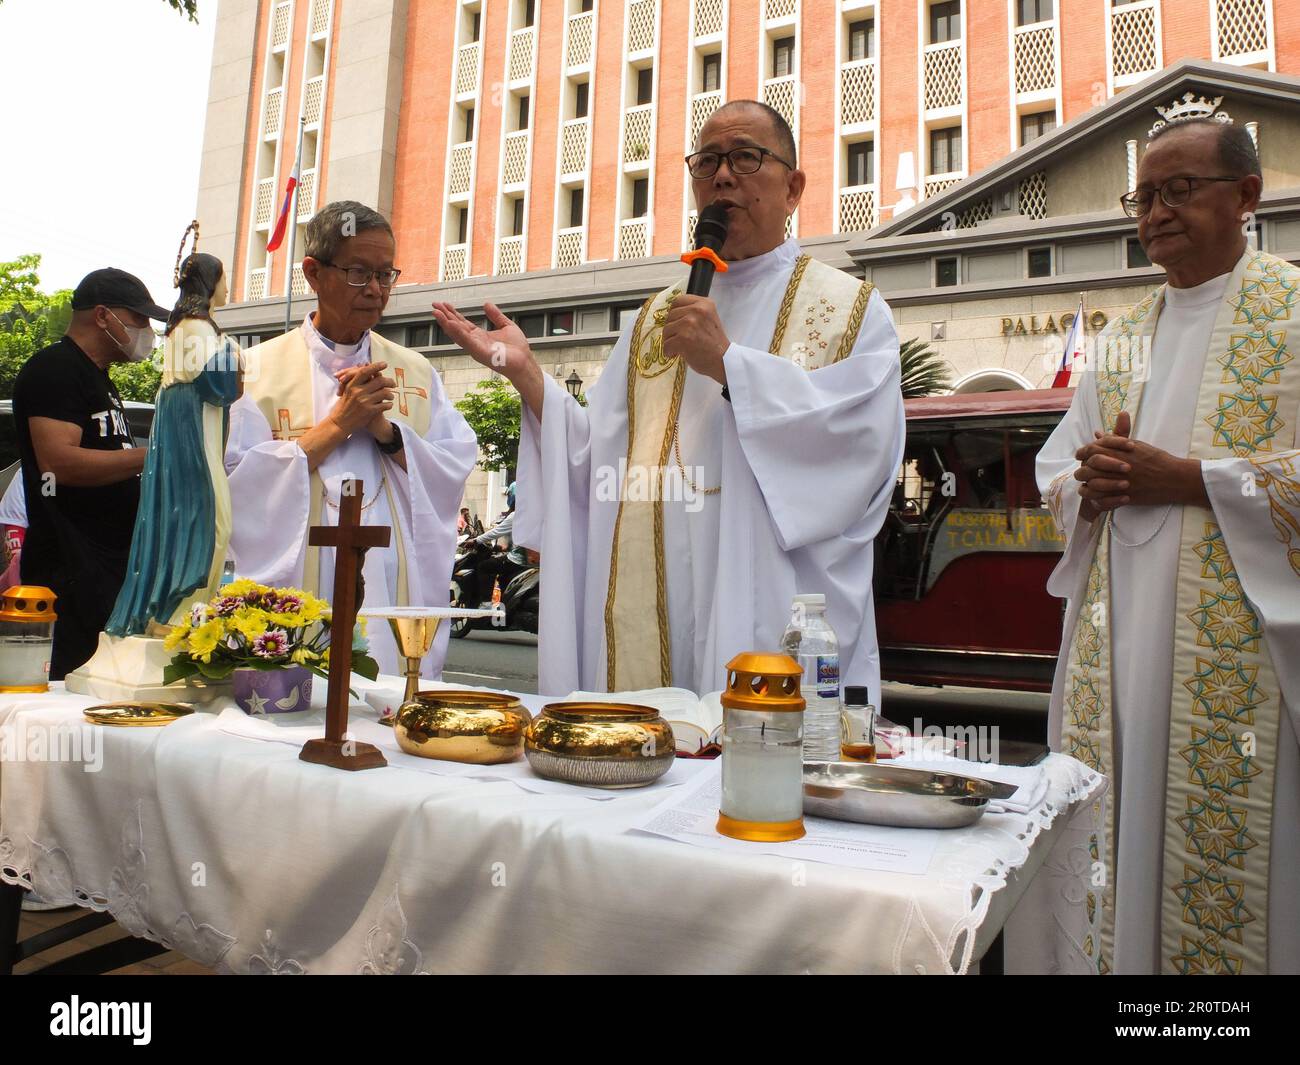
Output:
[[[619,479],[619,512],[604,602],[610,692],[672,684],[663,495],[686,364],[676,352],[664,352],[663,325],[681,291],[677,285],[646,300],[628,351],[627,466]],[[768,351],[807,369],[846,359],[858,338],[871,291],[870,282],[800,256],[777,309]]]

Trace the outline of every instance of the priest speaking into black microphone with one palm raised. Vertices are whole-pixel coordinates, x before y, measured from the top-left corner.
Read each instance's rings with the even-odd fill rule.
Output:
[[[485,330],[434,304],[524,401],[515,540],[543,559],[540,689],[716,690],[732,655],[779,648],[809,592],[826,594],[844,681],[879,692],[872,540],[904,445],[889,308],[785,238],[805,176],[780,114],[725,104],[697,148],[725,272],[707,296],[684,276],[646,300],[588,407],[497,307]]]

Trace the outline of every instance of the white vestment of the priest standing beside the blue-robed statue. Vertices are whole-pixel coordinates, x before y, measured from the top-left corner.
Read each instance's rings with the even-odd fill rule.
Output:
[[[230,437],[226,445],[226,469],[234,501],[234,533],[230,546],[235,570],[269,585],[300,586],[330,599],[334,590],[334,550],[309,551],[307,529],[311,524],[338,524],[339,490],[348,477],[364,482],[361,524],[389,525],[393,538],[386,549],[372,547],[365,554],[365,607],[411,605],[446,606],[451,581],[451,563],[456,542],[456,516],[465,479],[477,458],[477,442],[460,412],[447,401],[442,382],[432,368],[422,373],[419,385],[407,375],[399,377],[402,394],[390,411],[395,421],[399,412],[416,414],[416,404],[426,404],[428,428],[421,433],[410,424],[400,424],[407,468],[384,455],[374,438],[363,428],[335,447],[312,476],[307,454],[295,442],[298,436],[324,419],[338,402],[334,375],[352,365],[372,362],[372,338],[367,333],[358,345],[335,345],[316,332],[311,317],[281,341],[272,355],[259,365],[259,348],[251,348],[250,365],[260,373],[278,373],[281,360],[308,360],[312,411],[291,410],[289,398],[274,398],[280,424],[273,427],[251,393],[230,408]],[[300,339],[299,339],[300,338]],[[285,341],[289,343],[286,345]],[[404,356],[421,360],[384,343],[374,355],[389,362],[386,376],[394,375],[394,360]],[[420,369],[416,362],[412,369]],[[273,384],[272,388],[276,385]],[[285,395],[289,389],[286,386]],[[402,411],[400,408],[404,408]],[[313,499],[313,493],[318,499]],[[316,558],[315,572],[307,572]],[[370,654],[385,674],[400,674],[404,659],[387,624],[368,625]],[[421,674],[437,677],[447,649],[447,625],[425,658]]]

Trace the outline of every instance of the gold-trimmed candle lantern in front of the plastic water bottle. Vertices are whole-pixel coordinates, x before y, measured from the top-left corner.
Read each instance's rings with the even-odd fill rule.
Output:
[[[802,674],[788,654],[746,651],[727,663],[718,814],[724,836],[785,843],[803,835]]]

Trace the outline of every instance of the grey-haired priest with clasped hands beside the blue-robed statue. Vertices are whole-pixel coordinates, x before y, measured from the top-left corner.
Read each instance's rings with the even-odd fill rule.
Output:
[[[374,332],[396,283],[387,220],[364,204],[326,204],[307,224],[303,274],[317,309],[244,352],[244,394],[230,410],[230,546],[240,577],[329,597],[334,553],[312,525],[338,523],[341,488],[364,482],[361,523],[389,525],[364,564],[367,606],[445,606],[456,514],[477,458],[473,430],[429,360]],[[446,627],[425,659],[437,676]],[[369,632],[381,671],[402,671],[387,627]]]

